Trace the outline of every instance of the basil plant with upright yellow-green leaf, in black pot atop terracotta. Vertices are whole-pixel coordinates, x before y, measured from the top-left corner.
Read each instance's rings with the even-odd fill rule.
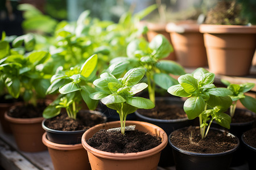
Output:
[[[97,54],[94,54],[81,68],[77,66],[68,71],[57,71],[57,74],[52,76],[51,86],[46,93],[54,94],[59,91],[60,96],[44,110],[44,118],[55,117],[61,108],[65,108],[68,117],[76,119],[81,101],[84,101],[90,110],[96,109],[98,100],[90,99],[89,95],[96,92],[92,81],[97,71],[97,59]]]

